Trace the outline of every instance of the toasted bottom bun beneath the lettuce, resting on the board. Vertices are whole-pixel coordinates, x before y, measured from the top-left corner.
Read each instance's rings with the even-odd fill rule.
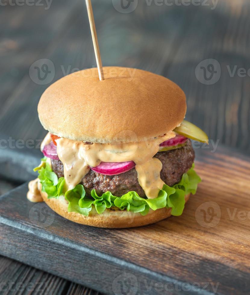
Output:
[[[102,214],[98,214],[95,208],[92,208],[89,212],[89,216],[84,216],[80,213],[68,212],[68,204],[64,196],[61,196],[58,199],[48,199],[47,194],[41,191],[41,185],[39,190],[44,202],[53,211],[68,220],[84,225],[102,228],[129,228],[148,225],[171,216],[171,208],[162,208],[155,211],[150,209],[148,214],[145,216],[142,216],[140,213],[133,213],[127,210],[113,209],[106,209]],[[189,199],[189,195],[190,194],[185,196],[186,202]]]

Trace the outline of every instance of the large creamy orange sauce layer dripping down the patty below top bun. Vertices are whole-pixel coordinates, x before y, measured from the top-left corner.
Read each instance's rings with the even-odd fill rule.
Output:
[[[86,144],[67,138],[56,139],[58,157],[64,165],[64,178],[67,189],[73,189],[89,172],[89,166],[98,166],[101,162],[133,161],[136,166],[138,182],[149,199],[156,198],[164,182],[160,178],[161,161],[153,158],[159,150],[159,144],[175,137],[171,131],[151,140],[116,143]]]

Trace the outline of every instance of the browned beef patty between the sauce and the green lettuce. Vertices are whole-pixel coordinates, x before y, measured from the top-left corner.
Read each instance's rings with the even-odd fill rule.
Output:
[[[158,152],[155,155],[162,163],[161,179],[169,186],[180,182],[183,173],[187,172],[194,162],[195,152],[190,140],[183,147],[176,150]],[[59,177],[64,176],[63,164],[60,160],[52,160],[52,169]],[[82,179],[86,194],[89,195],[95,189],[98,195],[110,191],[113,195],[120,197],[128,191],[136,191],[140,197],[145,193],[137,180],[137,172],[133,168],[119,175],[103,175],[90,170]]]

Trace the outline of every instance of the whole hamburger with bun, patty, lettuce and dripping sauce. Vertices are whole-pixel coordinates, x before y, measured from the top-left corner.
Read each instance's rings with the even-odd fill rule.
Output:
[[[148,225],[183,213],[201,181],[190,139],[207,135],[184,120],[186,97],[169,79],[104,67],[50,85],[38,104],[48,130],[27,197],[73,222],[103,228]]]

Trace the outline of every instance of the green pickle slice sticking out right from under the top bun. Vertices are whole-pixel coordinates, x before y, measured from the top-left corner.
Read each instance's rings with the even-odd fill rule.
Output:
[[[174,129],[174,132],[200,142],[208,143],[208,135],[202,129],[186,120],[183,120],[180,126]]]

